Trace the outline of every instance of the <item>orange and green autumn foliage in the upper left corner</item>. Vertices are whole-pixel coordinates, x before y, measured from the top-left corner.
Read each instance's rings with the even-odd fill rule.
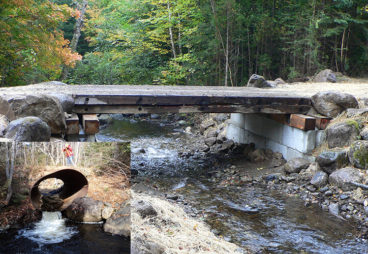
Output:
[[[46,0],[0,2],[0,86],[56,79],[61,66],[80,59],[59,25],[73,14]]]

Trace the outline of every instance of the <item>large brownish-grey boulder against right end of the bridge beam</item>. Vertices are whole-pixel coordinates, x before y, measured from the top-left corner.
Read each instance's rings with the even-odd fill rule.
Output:
[[[340,92],[319,92],[312,96],[312,104],[315,110],[328,117],[336,117],[348,108],[357,108],[358,101],[354,96]]]

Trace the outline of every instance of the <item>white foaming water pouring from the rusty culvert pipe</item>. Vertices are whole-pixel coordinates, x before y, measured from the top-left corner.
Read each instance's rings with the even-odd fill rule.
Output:
[[[19,236],[43,244],[61,243],[77,234],[76,227],[66,226],[61,212],[42,212],[42,219],[34,227],[22,229]]]

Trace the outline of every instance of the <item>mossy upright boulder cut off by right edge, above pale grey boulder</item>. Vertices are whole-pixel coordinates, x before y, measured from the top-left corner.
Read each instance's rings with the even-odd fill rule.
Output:
[[[368,141],[355,141],[349,148],[349,161],[357,168],[366,169],[368,167]]]

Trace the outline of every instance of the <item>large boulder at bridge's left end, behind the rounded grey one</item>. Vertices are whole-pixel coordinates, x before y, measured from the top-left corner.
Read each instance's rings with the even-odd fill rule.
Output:
[[[66,131],[64,110],[58,100],[48,95],[16,95],[8,98],[16,118],[37,116],[46,122],[52,134]]]

